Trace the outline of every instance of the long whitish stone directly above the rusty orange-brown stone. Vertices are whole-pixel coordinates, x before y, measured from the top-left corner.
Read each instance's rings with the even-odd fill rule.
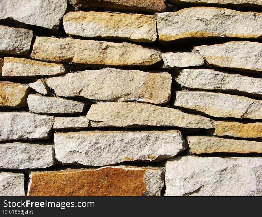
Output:
[[[62,163],[105,166],[124,161],[163,160],[185,150],[185,145],[178,130],[82,131],[55,133],[54,149],[56,159]]]

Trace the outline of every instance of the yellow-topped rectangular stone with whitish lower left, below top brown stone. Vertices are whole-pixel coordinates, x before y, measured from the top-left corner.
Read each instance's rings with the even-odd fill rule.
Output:
[[[82,37],[122,38],[153,43],[157,39],[153,15],[112,12],[69,12],[63,17],[67,34]]]

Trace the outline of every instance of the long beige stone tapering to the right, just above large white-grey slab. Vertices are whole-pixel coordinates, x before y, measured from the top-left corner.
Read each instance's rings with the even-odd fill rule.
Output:
[[[183,128],[214,128],[207,117],[187,114],[178,109],[145,103],[97,103],[86,117],[92,127],[176,126]]]

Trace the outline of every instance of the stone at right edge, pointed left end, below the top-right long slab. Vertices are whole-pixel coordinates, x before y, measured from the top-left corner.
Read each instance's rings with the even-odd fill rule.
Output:
[[[262,43],[232,41],[219,45],[202,45],[195,49],[213,66],[262,70]]]

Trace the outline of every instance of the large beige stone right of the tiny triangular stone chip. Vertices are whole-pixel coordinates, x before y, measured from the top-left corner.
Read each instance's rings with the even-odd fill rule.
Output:
[[[155,104],[169,101],[171,83],[172,77],[167,72],[149,73],[113,68],[86,70],[46,79],[46,84],[58,96],[82,96],[108,101],[137,100]]]

